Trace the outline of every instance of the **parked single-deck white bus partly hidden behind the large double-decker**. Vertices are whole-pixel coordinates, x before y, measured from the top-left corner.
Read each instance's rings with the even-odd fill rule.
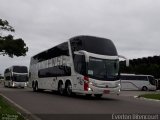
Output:
[[[156,80],[151,75],[122,74],[121,90],[156,90]]]

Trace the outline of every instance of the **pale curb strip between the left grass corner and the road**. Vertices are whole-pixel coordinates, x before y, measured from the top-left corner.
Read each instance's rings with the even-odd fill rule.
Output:
[[[0,93],[0,96],[2,96],[4,99],[6,99],[11,106],[16,108],[18,110],[18,112],[25,118],[25,120],[42,120],[39,117],[37,117],[36,115],[33,115],[28,110],[26,110],[23,107],[21,107],[20,105],[18,105],[17,103],[15,103],[14,101],[12,101],[11,99],[9,99],[8,97],[4,96],[2,93]]]

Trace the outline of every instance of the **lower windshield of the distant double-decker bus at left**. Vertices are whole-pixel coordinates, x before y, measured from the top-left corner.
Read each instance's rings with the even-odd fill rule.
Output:
[[[15,81],[15,82],[26,82],[26,81],[28,81],[28,76],[27,75],[13,74],[13,81]]]

